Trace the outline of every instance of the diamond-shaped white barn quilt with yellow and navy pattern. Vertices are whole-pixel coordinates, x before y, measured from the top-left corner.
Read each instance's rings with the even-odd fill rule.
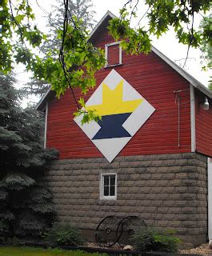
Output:
[[[102,120],[82,125],[79,116],[74,121],[112,162],[155,109],[116,70],[111,70],[86,102],[86,110],[96,110]]]

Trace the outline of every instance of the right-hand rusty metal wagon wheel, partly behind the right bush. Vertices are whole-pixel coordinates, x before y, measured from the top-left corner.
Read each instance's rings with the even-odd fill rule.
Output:
[[[139,230],[146,229],[146,223],[138,216],[128,216],[118,224],[117,237],[120,246],[130,244],[130,238]]]

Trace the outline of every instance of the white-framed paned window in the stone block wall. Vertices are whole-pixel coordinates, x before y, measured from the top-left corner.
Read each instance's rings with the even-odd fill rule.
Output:
[[[116,174],[101,174],[100,198],[101,199],[117,198],[117,175]]]

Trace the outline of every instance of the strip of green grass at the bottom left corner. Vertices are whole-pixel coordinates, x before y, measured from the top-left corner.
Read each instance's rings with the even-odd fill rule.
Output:
[[[81,250],[42,249],[32,247],[0,246],[0,256],[100,256],[89,254]]]

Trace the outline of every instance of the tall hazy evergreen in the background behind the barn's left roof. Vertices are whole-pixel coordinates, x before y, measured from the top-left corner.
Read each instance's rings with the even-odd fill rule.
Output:
[[[41,47],[42,54],[45,56],[52,56],[52,58],[58,58],[58,50],[62,45],[62,40],[58,39],[58,30],[62,30],[63,17],[64,17],[64,3],[63,0],[57,0],[58,5],[53,6],[53,11],[47,16],[47,24],[49,27],[49,33],[46,41]],[[82,20],[82,27],[85,30],[91,30],[94,27],[94,14],[92,10],[93,4],[91,0],[70,0],[69,10],[70,14],[74,15],[78,20]],[[72,17],[69,15],[68,17]],[[32,79],[24,86],[23,90],[26,94],[35,94],[42,96],[50,88],[50,84],[45,81]]]

